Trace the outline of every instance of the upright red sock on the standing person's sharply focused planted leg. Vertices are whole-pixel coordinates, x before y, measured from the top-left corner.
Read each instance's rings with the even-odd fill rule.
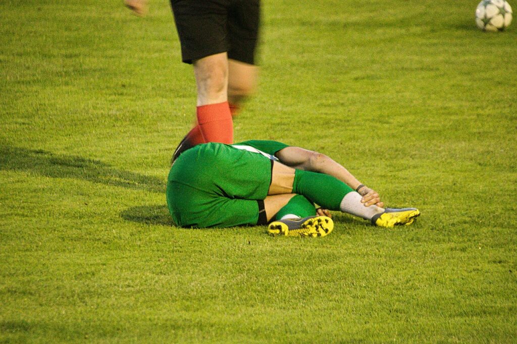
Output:
[[[197,123],[205,142],[233,144],[233,121],[228,102],[197,106]]]

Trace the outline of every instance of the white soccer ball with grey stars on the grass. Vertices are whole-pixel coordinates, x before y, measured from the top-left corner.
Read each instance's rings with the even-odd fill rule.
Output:
[[[483,0],[476,8],[476,24],[483,31],[503,31],[512,22],[512,8],[505,0]]]

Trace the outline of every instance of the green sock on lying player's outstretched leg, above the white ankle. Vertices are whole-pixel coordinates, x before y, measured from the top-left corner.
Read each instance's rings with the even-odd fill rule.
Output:
[[[329,175],[301,169],[294,174],[293,193],[303,195],[328,210],[341,210],[343,197],[352,191],[350,186]]]

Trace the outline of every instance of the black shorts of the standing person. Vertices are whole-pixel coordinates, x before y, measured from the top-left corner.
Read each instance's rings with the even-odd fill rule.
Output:
[[[171,0],[171,6],[184,62],[227,52],[255,64],[260,0]]]

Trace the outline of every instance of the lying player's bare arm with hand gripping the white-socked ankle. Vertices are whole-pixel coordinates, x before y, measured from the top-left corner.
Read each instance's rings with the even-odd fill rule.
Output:
[[[275,155],[281,163],[287,166],[327,174],[341,180],[354,190],[361,185],[361,182],[349,173],[345,167],[330,159],[325,154],[313,152],[300,147],[286,147],[279,150]],[[363,196],[361,201],[365,206],[375,204],[378,207],[384,207],[384,202],[381,201],[378,193],[369,187],[361,187],[361,189],[358,190],[358,193]]]

